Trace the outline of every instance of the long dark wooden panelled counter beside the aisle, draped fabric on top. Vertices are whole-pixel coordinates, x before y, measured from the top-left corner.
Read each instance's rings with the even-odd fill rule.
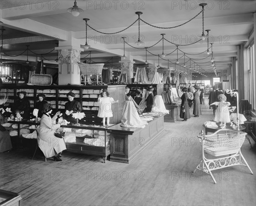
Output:
[[[155,117],[145,128],[125,128],[121,123],[107,129],[110,136],[110,161],[130,163],[163,133],[164,115]]]

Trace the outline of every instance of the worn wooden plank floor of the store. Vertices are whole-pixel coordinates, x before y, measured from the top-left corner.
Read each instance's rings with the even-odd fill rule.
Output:
[[[192,112],[191,112],[192,113]],[[0,154],[0,189],[22,196],[21,205],[256,205],[256,145],[245,139],[244,166],[192,174],[200,160],[196,136],[213,119],[203,105],[199,118],[165,122],[165,134],[130,164],[102,163],[101,157],[63,153],[54,162],[38,153],[17,150]]]

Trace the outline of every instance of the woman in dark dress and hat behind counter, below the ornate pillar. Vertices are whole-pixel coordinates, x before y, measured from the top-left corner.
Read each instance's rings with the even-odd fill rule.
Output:
[[[67,93],[67,98],[69,102],[65,104],[65,110],[66,110],[66,116],[65,119],[70,122],[77,122],[77,119],[72,117],[72,113],[78,113],[81,112],[81,104],[80,102],[74,100],[74,97],[76,95],[73,92]]]

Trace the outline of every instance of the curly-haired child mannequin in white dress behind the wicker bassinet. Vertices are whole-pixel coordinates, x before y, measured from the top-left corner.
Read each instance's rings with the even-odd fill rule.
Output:
[[[224,94],[220,94],[218,96],[219,102],[213,102],[210,105],[218,106],[217,110],[215,111],[215,122],[221,122],[220,127],[224,129],[226,127],[226,123],[230,122],[230,114],[228,110],[228,106],[230,102],[226,102],[227,97]]]

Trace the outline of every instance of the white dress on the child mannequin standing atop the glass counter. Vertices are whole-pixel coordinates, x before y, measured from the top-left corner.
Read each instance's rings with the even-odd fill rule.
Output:
[[[111,104],[114,102],[114,99],[112,97],[99,97],[98,102],[100,104],[99,106],[99,117],[112,117],[112,110],[111,110]]]

